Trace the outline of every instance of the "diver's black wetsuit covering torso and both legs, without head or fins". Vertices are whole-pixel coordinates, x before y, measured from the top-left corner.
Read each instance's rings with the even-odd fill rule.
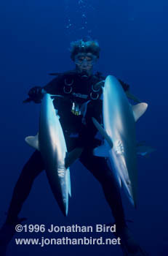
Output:
[[[54,105],[60,116],[68,151],[76,148],[76,146],[84,148],[79,158],[80,162],[102,185],[105,199],[111,207],[116,223],[124,225],[121,195],[113,180],[112,172],[105,158],[95,157],[92,154],[92,149],[100,144],[100,141],[95,139],[97,129],[92,123],[92,116],[101,122],[102,100],[100,97],[102,89],[100,86],[97,87],[96,84],[103,79],[98,72],[89,78],[81,78],[75,71],[66,72],[63,75],[58,75],[47,86],[44,86],[44,89],[49,94],[63,95],[63,98],[57,97],[54,100]],[[121,80],[119,81],[124,91],[127,91],[129,86]],[[37,99],[35,102],[40,102],[40,100]],[[84,103],[86,104],[84,105]],[[72,113],[74,106],[77,111],[73,110]],[[78,107],[80,110],[81,106],[85,106],[83,113],[79,116],[74,115],[74,111],[78,114]],[[35,151],[23,167],[15,186],[7,222],[15,222],[25,199],[31,191],[34,179],[44,169],[41,154],[39,151]]]

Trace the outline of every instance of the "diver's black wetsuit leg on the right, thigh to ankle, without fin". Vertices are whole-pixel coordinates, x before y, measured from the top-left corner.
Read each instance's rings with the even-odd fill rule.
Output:
[[[81,154],[80,161],[102,185],[105,199],[111,208],[113,217],[118,226],[124,225],[124,209],[119,187],[117,187],[114,181],[106,159],[104,157],[93,156],[92,151],[88,149]]]

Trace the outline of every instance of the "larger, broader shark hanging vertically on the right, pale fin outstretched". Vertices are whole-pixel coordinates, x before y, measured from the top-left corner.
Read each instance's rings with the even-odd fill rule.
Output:
[[[119,81],[108,75],[103,88],[104,129],[92,118],[105,138],[105,145],[95,148],[94,154],[109,157],[116,182],[124,187],[134,206],[137,200],[135,121],[143,115],[147,107],[146,103],[130,105]]]

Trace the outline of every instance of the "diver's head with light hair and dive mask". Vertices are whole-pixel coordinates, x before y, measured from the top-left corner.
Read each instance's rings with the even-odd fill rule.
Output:
[[[92,75],[93,65],[99,59],[100,47],[92,39],[80,39],[71,42],[71,59],[76,64],[76,71],[83,78]]]

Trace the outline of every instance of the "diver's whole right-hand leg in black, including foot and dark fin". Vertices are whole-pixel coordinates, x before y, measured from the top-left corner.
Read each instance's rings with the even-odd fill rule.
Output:
[[[146,256],[147,254],[139,246],[129,231],[124,219],[124,209],[121,201],[119,187],[111,173],[111,169],[103,157],[95,157],[90,149],[83,151],[80,157],[81,163],[97,178],[103,187],[105,198],[108,201],[113,217],[116,221],[116,238],[121,238],[121,249],[124,256]]]

